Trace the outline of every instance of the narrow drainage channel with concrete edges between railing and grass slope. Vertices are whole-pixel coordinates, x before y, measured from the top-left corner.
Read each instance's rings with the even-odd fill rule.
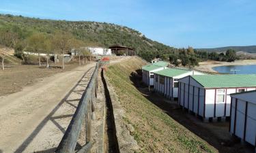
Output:
[[[124,122],[124,109],[104,73],[101,71],[98,75],[98,96],[92,114],[94,146],[91,148],[91,153],[136,152],[139,146],[130,135],[132,125]]]

